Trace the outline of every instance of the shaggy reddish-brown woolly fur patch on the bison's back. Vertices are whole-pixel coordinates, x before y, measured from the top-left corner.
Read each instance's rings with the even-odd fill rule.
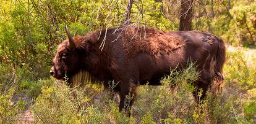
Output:
[[[138,53],[149,55],[170,54],[185,45],[180,37],[171,36],[167,31],[153,28],[130,28],[122,34],[124,51],[128,58]]]

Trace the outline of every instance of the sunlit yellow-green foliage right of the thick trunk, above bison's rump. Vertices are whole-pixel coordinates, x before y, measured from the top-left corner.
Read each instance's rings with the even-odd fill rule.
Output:
[[[194,29],[223,37],[232,45],[248,47],[256,41],[256,2],[198,1],[195,3]]]

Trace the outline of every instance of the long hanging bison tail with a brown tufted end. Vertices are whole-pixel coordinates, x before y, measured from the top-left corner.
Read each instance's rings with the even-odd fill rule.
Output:
[[[221,90],[221,83],[223,83],[224,78],[222,75],[223,72],[223,65],[225,62],[225,57],[226,56],[226,47],[224,45],[224,42],[222,39],[220,39],[219,42],[219,47],[218,47],[218,52],[216,55],[216,66],[215,66],[215,85],[213,88],[216,90]]]

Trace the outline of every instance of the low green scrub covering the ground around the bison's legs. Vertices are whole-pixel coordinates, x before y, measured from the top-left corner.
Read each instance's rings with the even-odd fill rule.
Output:
[[[19,122],[23,110],[30,109],[36,123],[255,123],[255,58],[246,61],[242,52],[228,52],[227,58],[220,93],[209,90],[202,104],[192,96],[192,82],[199,73],[190,64],[163,77],[161,86],[140,86],[130,117],[119,112],[119,97],[111,88],[93,84],[70,88],[53,78],[22,80],[1,91],[0,122]],[[14,102],[19,91],[31,102]]]

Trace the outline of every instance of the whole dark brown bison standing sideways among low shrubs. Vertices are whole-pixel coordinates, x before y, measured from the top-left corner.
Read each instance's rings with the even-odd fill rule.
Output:
[[[109,80],[119,82],[114,90],[119,93],[119,111],[129,108],[137,96],[139,85],[161,85],[160,79],[170,69],[184,69],[192,61],[200,72],[194,82],[197,92],[205,93],[213,81],[223,82],[222,68],[225,47],[222,39],[200,31],[159,31],[139,26],[124,26],[105,31],[94,31],[86,36],[70,36],[58,45],[50,74],[56,79],[88,71],[108,87]],[[217,85],[220,86],[220,85]],[[216,88],[216,87],[215,87]],[[217,87],[218,88],[218,87]],[[132,95],[126,106],[126,95]]]

